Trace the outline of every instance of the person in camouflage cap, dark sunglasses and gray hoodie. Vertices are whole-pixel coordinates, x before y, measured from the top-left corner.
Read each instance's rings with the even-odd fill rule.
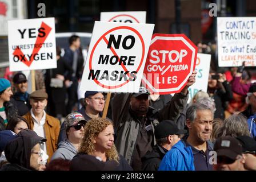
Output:
[[[83,127],[85,118],[80,113],[71,113],[66,116],[63,125],[65,127],[67,138],[59,142],[58,150],[55,151],[51,160],[62,158],[72,160],[77,154],[80,140],[83,138]]]

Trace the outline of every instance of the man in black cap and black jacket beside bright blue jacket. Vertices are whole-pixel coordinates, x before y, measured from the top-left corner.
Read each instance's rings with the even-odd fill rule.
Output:
[[[153,151],[147,152],[142,158],[143,171],[157,171],[163,156],[181,140],[179,136],[186,134],[187,130],[179,130],[173,121],[166,120],[155,127],[154,133],[157,144],[153,147]]]

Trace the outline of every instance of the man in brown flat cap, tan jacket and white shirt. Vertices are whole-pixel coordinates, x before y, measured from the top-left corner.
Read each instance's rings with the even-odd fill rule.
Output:
[[[57,148],[60,122],[58,119],[46,114],[47,98],[48,95],[43,90],[31,93],[30,105],[32,109],[23,118],[29,122],[29,129],[34,130],[39,137],[47,139],[47,142],[43,143],[41,147],[49,155],[50,160]]]

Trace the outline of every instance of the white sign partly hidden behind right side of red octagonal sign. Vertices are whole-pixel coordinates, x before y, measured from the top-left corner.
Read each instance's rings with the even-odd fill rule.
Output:
[[[205,53],[197,54],[197,62],[195,64],[195,71],[197,71],[197,77],[195,83],[189,87],[189,100],[199,91],[207,92],[208,77],[210,72],[211,55]]]

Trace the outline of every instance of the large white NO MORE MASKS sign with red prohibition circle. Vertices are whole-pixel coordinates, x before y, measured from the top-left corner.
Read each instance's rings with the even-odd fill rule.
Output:
[[[154,24],[95,22],[80,90],[138,92]]]

